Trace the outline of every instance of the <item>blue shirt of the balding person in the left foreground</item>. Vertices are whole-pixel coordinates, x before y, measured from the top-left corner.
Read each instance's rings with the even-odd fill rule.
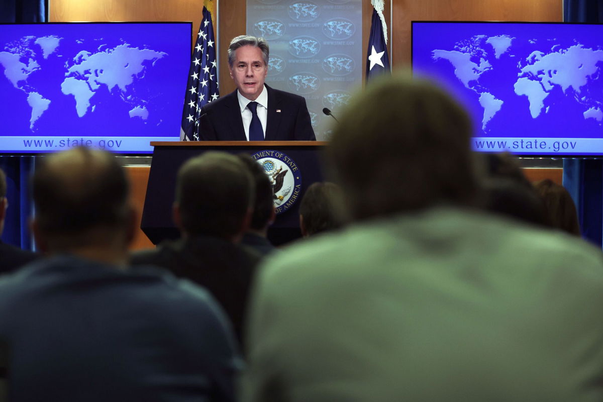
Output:
[[[209,292],[77,256],[0,279],[11,401],[235,401],[241,362]]]

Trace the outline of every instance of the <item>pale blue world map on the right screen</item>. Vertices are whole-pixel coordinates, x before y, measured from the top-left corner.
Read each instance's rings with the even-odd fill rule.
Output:
[[[586,121],[603,125],[601,46],[576,39],[475,35],[452,48],[432,49],[431,59],[470,92],[464,96],[479,102],[484,134],[507,105],[518,104],[536,124],[552,113],[577,110]],[[515,115],[521,119],[525,113]]]

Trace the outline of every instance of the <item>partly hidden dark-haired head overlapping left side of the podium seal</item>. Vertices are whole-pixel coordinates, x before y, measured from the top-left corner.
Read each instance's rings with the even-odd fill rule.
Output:
[[[240,154],[238,157],[249,169],[255,184],[253,215],[251,215],[249,228],[251,230],[263,231],[274,219],[274,194],[270,179],[264,171],[264,168],[249,155]]]

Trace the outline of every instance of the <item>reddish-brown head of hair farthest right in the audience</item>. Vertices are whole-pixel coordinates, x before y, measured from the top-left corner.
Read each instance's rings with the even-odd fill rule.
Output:
[[[534,183],[534,188],[545,204],[549,224],[567,233],[581,236],[576,206],[565,187],[551,179],[545,179]]]

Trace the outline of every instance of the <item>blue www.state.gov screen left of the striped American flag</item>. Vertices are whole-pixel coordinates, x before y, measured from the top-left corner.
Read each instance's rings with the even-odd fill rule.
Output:
[[[0,152],[178,140],[191,23],[0,25]]]

